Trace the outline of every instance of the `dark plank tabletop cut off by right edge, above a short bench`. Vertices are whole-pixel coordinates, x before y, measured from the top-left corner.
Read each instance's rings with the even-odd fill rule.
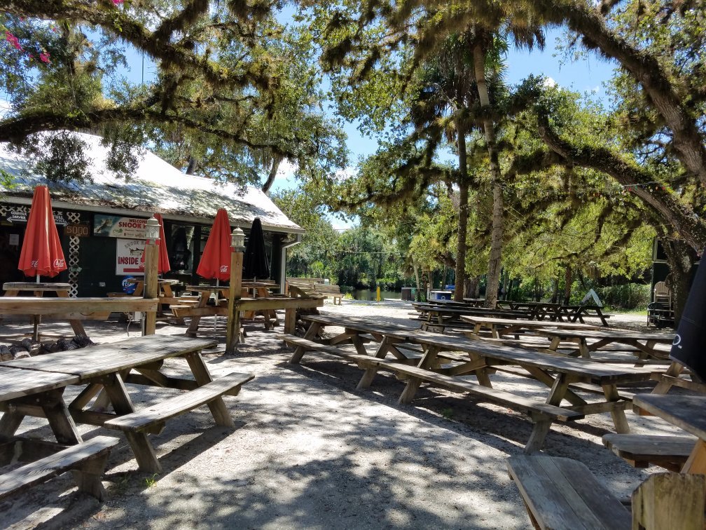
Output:
[[[633,406],[706,441],[706,396],[635,394]]]

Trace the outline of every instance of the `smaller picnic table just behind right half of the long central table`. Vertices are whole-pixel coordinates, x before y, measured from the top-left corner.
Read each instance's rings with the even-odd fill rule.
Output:
[[[535,329],[535,333],[551,338],[550,350],[556,350],[561,341],[578,344],[578,354],[589,358],[592,351],[600,351],[611,344],[624,344],[638,352],[639,359],[664,359],[664,351],[657,349],[657,344],[671,344],[674,335],[642,333],[641,331],[626,331],[622,329]],[[589,343],[588,339],[594,340]]]

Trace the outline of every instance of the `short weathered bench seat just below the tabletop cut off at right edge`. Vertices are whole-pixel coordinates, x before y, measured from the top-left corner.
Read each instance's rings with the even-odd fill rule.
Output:
[[[660,466],[681,471],[696,443],[695,437],[656,435],[603,435],[603,444],[630,466]]]

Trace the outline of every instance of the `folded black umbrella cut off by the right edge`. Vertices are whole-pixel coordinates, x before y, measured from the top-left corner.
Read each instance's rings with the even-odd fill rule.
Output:
[[[699,265],[669,357],[706,381],[706,264]]]

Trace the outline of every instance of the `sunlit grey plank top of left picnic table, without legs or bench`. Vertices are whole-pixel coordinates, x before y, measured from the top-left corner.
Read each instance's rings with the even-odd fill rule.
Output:
[[[81,381],[215,346],[217,341],[173,335],[128,338],[101,346],[48,353],[0,363],[0,367],[77,375]]]

